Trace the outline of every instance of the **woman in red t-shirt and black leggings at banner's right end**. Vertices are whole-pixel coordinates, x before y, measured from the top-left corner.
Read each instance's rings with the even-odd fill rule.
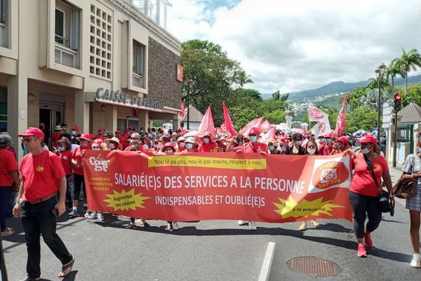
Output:
[[[385,181],[389,193],[392,191],[392,180],[389,174],[389,166],[385,157],[379,154],[377,148],[377,139],[374,136],[366,135],[361,139],[361,152],[351,157],[352,166],[355,170],[354,178],[352,178],[349,187],[349,202],[351,202],[352,211],[354,212],[354,233],[358,241],[357,256],[366,257],[367,251],[363,242],[367,247],[373,247],[370,233],[379,226],[382,220],[382,212],[380,211],[379,190],[375,180],[368,170],[368,164],[364,156],[367,157],[373,171],[377,183],[382,185],[382,178]],[[352,154],[352,152],[350,152]],[[393,197],[389,198],[394,204]],[[368,214],[368,223],[364,227]]]

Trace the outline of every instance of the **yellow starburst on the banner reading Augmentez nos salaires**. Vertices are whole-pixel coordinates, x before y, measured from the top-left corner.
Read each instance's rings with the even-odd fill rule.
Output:
[[[107,207],[112,207],[114,211],[117,210],[135,210],[138,208],[143,208],[143,204],[145,204],[145,200],[151,199],[152,197],[145,197],[142,196],[142,193],[135,194],[134,188],[131,190],[121,190],[118,192],[116,190],[112,190],[113,194],[106,194],[109,199],[104,200],[108,203]]]

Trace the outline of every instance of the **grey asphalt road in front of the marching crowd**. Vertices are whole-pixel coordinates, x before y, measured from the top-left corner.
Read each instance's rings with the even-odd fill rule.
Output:
[[[400,176],[392,169],[392,179]],[[72,275],[65,280],[258,280],[267,244],[276,242],[269,280],[314,280],[290,270],[286,263],[298,256],[316,256],[338,264],[341,273],[324,280],[420,280],[421,269],[410,268],[408,212],[404,202],[396,214],[383,218],[373,233],[375,247],[368,257],[356,256],[352,225],[344,220],[320,220],[321,227],[304,233],[300,223],[258,223],[250,232],[236,221],[180,223],[177,232],[163,230],[165,222],[149,221],[150,228],[126,230],[107,216],[105,223],[83,218],[62,220],[58,233],[76,257]],[[26,247],[20,222],[8,224],[18,234],[4,239],[10,280],[25,276]],[[60,263],[41,243],[44,280],[59,280]]]

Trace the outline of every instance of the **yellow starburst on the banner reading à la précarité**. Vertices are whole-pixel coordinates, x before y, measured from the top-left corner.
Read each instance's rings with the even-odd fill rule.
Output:
[[[330,204],[333,200],[323,201],[323,197],[313,201],[301,200],[300,202],[295,202],[291,197],[288,197],[288,200],[278,199],[280,203],[274,202],[274,205],[278,208],[274,211],[280,214],[282,218],[319,216],[319,214],[333,216],[330,214],[333,208],[345,208],[344,206]]]

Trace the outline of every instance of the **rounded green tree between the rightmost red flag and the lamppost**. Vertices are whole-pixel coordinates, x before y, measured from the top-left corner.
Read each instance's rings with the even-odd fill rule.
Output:
[[[359,129],[371,131],[377,125],[377,112],[368,105],[360,105],[354,110],[347,110],[345,131],[354,132]]]

